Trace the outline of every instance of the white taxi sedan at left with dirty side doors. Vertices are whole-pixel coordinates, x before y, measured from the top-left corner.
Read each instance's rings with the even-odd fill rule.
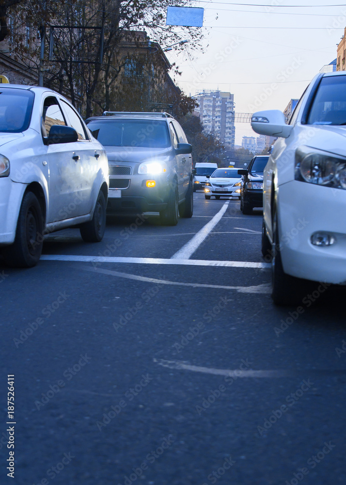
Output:
[[[73,106],[46,88],[0,87],[0,247],[10,266],[31,267],[44,236],[78,226],[101,241],[108,159]]]

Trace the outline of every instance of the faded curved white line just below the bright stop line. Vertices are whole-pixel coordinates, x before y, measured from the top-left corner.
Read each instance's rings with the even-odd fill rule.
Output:
[[[92,268],[91,266],[82,266],[84,271],[91,271],[93,273],[102,273],[103,275],[118,276],[126,279],[134,279],[136,281],[145,281],[146,283],[157,283],[160,285],[174,285],[174,286],[189,286],[192,288],[218,288],[222,290],[236,290],[238,293],[260,293],[268,294],[271,291],[271,285],[263,284],[258,286],[223,286],[223,285],[206,285],[202,283],[183,283],[179,281],[169,281],[165,279],[148,278],[147,276],[131,275],[129,273],[121,273],[119,271],[104,270],[102,268]]]

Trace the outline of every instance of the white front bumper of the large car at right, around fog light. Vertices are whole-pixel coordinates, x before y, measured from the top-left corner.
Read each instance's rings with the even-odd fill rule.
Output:
[[[279,187],[279,242],[288,275],[346,284],[346,190],[292,180]],[[320,247],[312,234],[332,234],[335,243]]]

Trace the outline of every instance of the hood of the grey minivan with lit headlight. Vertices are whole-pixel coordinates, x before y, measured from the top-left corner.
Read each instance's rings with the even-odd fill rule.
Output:
[[[168,157],[172,149],[168,148],[139,148],[137,146],[105,146],[109,162],[144,162]]]

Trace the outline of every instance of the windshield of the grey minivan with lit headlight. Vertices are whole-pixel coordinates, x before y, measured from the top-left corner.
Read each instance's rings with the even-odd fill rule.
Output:
[[[165,148],[171,145],[165,121],[137,119],[92,120],[88,128],[103,146]]]

